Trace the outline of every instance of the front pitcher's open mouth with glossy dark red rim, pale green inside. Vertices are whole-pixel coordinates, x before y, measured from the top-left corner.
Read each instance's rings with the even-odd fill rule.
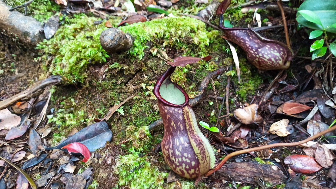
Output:
[[[175,71],[175,66],[170,67],[155,83],[154,95],[160,102],[167,106],[183,107],[189,103],[187,93],[170,80],[171,74]]]

